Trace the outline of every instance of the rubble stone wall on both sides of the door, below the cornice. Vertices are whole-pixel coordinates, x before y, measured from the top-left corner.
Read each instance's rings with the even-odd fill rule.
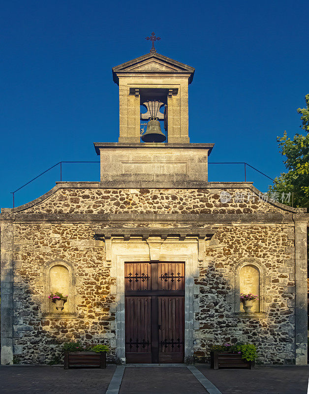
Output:
[[[49,362],[59,356],[63,341],[77,339],[104,342],[112,348],[110,357],[115,357],[115,296],[110,294],[115,279],[103,266],[103,243],[83,242],[93,238],[87,225],[18,225],[16,230],[14,353],[23,362]],[[260,362],[293,362],[294,267],[291,253],[285,251],[293,244],[288,239],[292,230],[287,225],[217,227],[217,242],[206,248],[207,266],[200,268],[195,280],[196,358],[207,359],[214,342],[242,339],[257,345]],[[233,316],[235,266],[251,256],[267,269],[266,318]],[[47,294],[40,274],[53,260],[71,261],[79,277],[74,319],[42,317]]]

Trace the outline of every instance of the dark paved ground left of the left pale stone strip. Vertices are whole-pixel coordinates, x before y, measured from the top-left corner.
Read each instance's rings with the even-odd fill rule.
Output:
[[[104,394],[115,369],[1,365],[0,394]]]

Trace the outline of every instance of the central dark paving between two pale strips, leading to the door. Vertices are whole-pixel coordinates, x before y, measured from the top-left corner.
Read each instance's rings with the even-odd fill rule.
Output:
[[[184,365],[125,368],[119,394],[207,394]]]

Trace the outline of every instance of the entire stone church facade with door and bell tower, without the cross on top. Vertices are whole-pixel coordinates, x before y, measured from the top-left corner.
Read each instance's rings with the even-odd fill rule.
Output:
[[[214,144],[189,142],[193,75],[154,51],[114,67],[120,137],[94,144],[100,181],[2,208],[2,364],[48,363],[70,340],[119,363],[207,361],[244,341],[260,363],[307,364],[309,215],[251,182],[208,181]],[[258,296],[251,310],[241,293]]]

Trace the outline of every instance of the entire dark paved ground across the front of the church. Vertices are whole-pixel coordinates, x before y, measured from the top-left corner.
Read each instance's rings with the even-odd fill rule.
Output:
[[[195,367],[221,394],[307,394],[309,366],[261,366],[247,369]],[[204,381],[209,392],[195,378],[199,372],[178,367],[119,367],[124,370],[119,394],[214,394],[214,386]],[[107,369],[63,369],[55,366],[0,366],[0,394],[105,394],[116,365]],[[197,373],[196,373],[197,372]],[[195,376],[193,375],[195,374]],[[116,377],[117,374],[115,374]],[[122,374],[121,374],[122,376]],[[199,376],[201,379],[201,374]],[[114,377],[114,379],[115,379]],[[117,380],[117,379],[116,379]]]

